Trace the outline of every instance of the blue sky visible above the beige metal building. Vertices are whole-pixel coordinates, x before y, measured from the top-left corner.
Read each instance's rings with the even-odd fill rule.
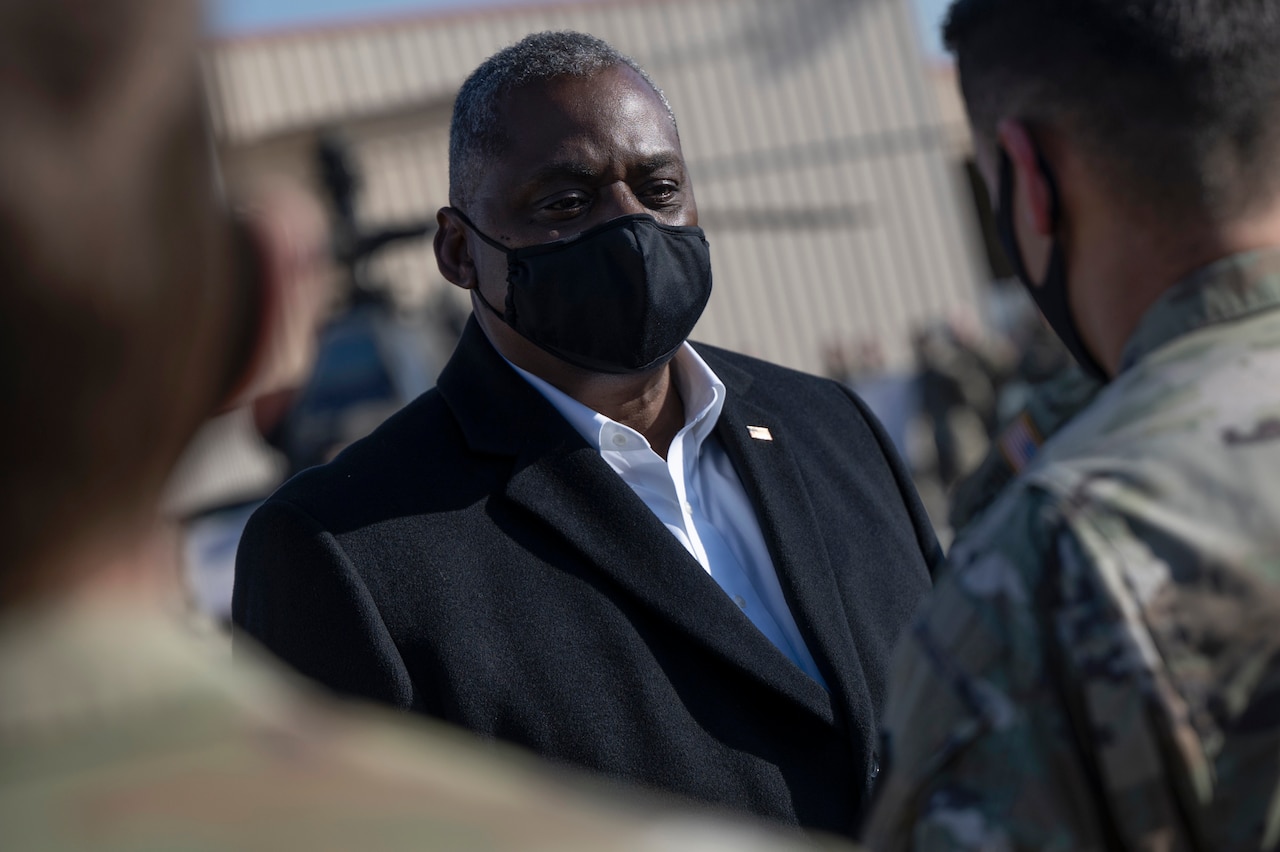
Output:
[[[214,0],[212,29],[223,35],[379,18],[422,9],[511,6],[544,0]],[[950,0],[911,0],[925,52],[942,55],[938,20]]]

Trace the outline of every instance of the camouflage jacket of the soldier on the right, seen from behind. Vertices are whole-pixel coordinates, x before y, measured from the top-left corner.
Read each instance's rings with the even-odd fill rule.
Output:
[[[876,849],[1280,842],[1280,251],[1143,317],[961,536],[890,690]]]

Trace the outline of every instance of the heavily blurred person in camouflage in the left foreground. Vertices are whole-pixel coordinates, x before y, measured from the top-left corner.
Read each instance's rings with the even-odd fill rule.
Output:
[[[196,32],[178,0],[0,0],[0,848],[796,844],[233,670],[169,609],[164,480],[234,388],[292,377],[266,344],[314,330],[323,293],[296,194],[228,262]]]

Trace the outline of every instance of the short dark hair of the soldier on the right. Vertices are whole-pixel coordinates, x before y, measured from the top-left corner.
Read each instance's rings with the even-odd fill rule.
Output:
[[[1061,125],[1164,209],[1234,216],[1280,183],[1275,0],[956,0],[943,38],[987,141]]]

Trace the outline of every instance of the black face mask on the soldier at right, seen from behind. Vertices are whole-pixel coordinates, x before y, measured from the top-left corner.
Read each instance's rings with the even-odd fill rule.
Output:
[[[1044,180],[1048,183],[1048,191],[1052,196],[1050,200],[1052,205],[1051,215],[1053,217],[1053,228],[1056,229],[1060,215],[1057,184],[1053,182],[1053,173],[1043,157],[1039,157],[1039,168],[1044,174]],[[1009,159],[1009,154],[1004,148],[1000,148],[998,191],[1000,205],[996,209],[996,225],[1000,232],[1000,242],[1005,247],[1005,253],[1009,256],[1009,262],[1014,266],[1018,280],[1032,294],[1041,313],[1044,315],[1044,320],[1053,329],[1053,333],[1061,338],[1066,345],[1066,351],[1071,353],[1071,357],[1080,365],[1080,368],[1098,381],[1110,381],[1102,365],[1097,362],[1084,345],[1080,330],[1071,317],[1071,304],[1066,293],[1066,258],[1062,256],[1061,243],[1056,239],[1053,241],[1053,251],[1050,255],[1048,269],[1044,271],[1043,281],[1037,285],[1032,280],[1030,272],[1027,271],[1027,262],[1018,248],[1018,237],[1014,229],[1014,162]]]

